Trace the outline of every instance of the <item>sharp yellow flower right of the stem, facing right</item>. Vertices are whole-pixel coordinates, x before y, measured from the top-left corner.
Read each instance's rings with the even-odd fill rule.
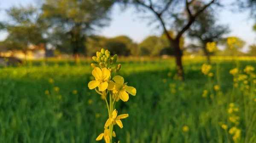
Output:
[[[120,98],[122,101],[128,101],[130,93],[131,95],[135,96],[136,95],[136,89],[134,87],[127,86],[127,82],[125,82],[124,78],[122,76],[115,76],[113,77],[113,81],[110,81],[108,85],[108,90],[113,90],[113,94],[117,96],[117,101],[118,98]]]

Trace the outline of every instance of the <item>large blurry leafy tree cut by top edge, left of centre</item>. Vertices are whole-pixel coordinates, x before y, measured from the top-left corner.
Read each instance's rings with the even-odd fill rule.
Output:
[[[108,25],[112,5],[113,0],[45,0],[42,15],[52,23],[52,28],[63,29],[77,61],[87,36]]]

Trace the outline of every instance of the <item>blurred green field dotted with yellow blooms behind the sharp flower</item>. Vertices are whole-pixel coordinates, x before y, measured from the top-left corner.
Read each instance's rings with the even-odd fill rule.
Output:
[[[119,74],[137,94],[116,105],[129,117],[122,120],[123,129],[114,126],[114,141],[256,143],[255,77],[235,78],[236,87],[230,74],[235,67],[246,74],[244,67],[256,62],[215,60],[209,77],[198,61],[183,61],[186,83],[175,76],[174,60],[122,61]],[[0,68],[0,143],[103,143],[95,139],[108,112],[100,95],[87,87],[90,61],[48,64]]]

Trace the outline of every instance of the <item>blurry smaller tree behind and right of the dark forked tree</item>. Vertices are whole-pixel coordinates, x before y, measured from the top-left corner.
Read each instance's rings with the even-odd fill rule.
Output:
[[[201,4],[201,3],[199,3]],[[193,6],[197,9],[198,6]],[[203,11],[191,25],[188,35],[192,39],[199,41],[199,45],[191,46],[192,48],[201,48],[204,51],[204,55],[207,56],[207,61],[210,63],[210,54],[207,50],[207,43],[218,42],[224,34],[229,32],[227,25],[217,24],[216,14],[212,8],[208,8]]]

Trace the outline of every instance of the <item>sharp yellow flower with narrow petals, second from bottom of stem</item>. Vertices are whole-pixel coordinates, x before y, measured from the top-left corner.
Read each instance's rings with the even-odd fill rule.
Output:
[[[117,124],[122,129],[123,125],[120,119],[127,118],[128,116],[129,116],[128,114],[122,114],[117,116],[117,110],[114,109],[114,111],[106,121],[105,126],[108,127],[111,123],[113,123],[113,125]]]

